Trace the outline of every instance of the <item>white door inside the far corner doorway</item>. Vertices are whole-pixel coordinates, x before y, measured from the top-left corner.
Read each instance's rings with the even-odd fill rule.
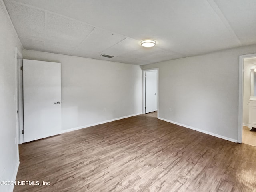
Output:
[[[156,72],[146,71],[146,113],[150,113],[157,110],[156,74]]]

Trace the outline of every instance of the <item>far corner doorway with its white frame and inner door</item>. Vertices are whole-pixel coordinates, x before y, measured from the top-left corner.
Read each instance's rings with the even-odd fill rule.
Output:
[[[143,70],[143,113],[158,117],[158,68]]]

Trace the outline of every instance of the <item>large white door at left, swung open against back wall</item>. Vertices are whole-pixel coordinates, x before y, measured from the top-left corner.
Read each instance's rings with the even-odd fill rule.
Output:
[[[61,132],[60,63],[23,60],[24,142]]]

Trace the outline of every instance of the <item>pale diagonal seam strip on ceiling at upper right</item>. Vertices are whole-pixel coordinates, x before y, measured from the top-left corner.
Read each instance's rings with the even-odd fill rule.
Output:
[[[208,4],[212,7],[212,9],[214,10],[214,12],[218,15],[218,17],[220,18],[220,20],[222,21],[222,23],[226,26],[226,28],[229,30],[229,32],[234,36],[234,38],[236,38],[238,44],[240,46],[242,46],[242,43],[240,41],[240,39],[238,38],[238,36],[236,35],[236,32],[234,31],[234,29],[230,26],[228,20],[226,19],[226,17],[224,16],[224,14],[222,13],[222,11],[220,10],[219,6],[216,4],[216,2],[214,0],[206,0],[208,2]]]

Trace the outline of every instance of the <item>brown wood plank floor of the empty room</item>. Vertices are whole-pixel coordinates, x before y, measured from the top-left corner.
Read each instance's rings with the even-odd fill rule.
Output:
[[[256,147],[143,114],[20,145],[30,192],[255,192]]]

